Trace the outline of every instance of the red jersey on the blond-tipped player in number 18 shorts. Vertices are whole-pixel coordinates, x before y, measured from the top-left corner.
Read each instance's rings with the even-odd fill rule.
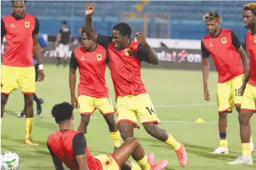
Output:
[[[202,57],[212,56],[219,83],[227,82],[244,73],[240,55],[236,51],[240,46],[241,43],[232,30],[223,29],[216,38],[210,35],[202,38]]]

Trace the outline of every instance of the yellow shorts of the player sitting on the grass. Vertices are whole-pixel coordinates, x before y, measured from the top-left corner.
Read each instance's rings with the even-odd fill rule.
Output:
[[[121,167],[117,162],[117,159],[115,158],[115,156],[113,156],[113,154],[95,156],[95,158],[102,163],[102,169],[100,170],[121,170]]]

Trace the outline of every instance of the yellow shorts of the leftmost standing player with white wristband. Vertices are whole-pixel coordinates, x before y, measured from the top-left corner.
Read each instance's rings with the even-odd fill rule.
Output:
[[[1,94],[8,95],[13,90],[22,88],[24,94],[36,92],[35,67],[10,67],[1,65]]]

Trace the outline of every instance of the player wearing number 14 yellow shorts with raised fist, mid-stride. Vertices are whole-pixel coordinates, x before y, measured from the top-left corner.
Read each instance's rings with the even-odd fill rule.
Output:
[[[139,117],[146,132],[176,150],[181,166],[186,166],[188,156],[183,144],[158,126],[161,121],[141,80],[141,61],[158,64],[157,54],[142,33],[136,34],[138,42],[131,41],[131,27],[126,23],[115,25],[111,37],[96,33],[91,18],[94,10],[95,4],[86,6],[86,34],[92,41],[104,46],[110,57],[111,77],[117,98],[117,124],[121,137],[123,140],[133,137],[133,129],[139,128]],[[141,163],[145,161],[146,158]]]

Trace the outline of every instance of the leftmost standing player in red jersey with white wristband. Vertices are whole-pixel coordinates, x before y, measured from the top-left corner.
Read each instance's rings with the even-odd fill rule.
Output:
[[[39,81],[44,80],[38,44],[39,22],[36,17],[25,13],[25,1],[12,1],[13,13],[1,19],[1,43],[7,40],[7,51],[1,66],[1,119],[9,93],[22,87],[25,98],[26,135],[25,143],[38,145],[31,139],[33,127],[33,94],[36,91],[36,73],[33,54],[38,63]]]

